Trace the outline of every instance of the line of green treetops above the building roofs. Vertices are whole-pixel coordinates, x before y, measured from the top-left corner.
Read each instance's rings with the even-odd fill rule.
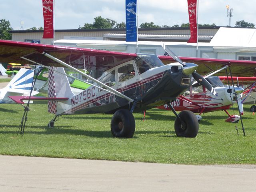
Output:
[[[198,24],[199,26],[204,27],[213,27],[216,26],[215,23],[213,24]],[[255,25],[253,23],[245,22],[244,20],[236,21],[235,27],[238,28],[255,28]],[[175,27],[189,27],[189,23],[182,23],[181,25],[175,24],[174,26],[169,25],[156,25],[154,22],[145,22],[142,23],[139,27],[140,28],[175,28]],[[98,16],[94,18],[93,23],[85,23],[84,26],[80,27],[78,29],[124,29],[126,28],[126,24],[124,22],[117,23],[115,20],[109,19],[109,18],[103,18],[102,16]],[[9,32],[13,30],[11,27],[11,24],[8,20],[1,19],[0,20],[0,39],[4,40],[11,40],[12,34]],[[44,30],[43,27],[32,27],[26,30]]]

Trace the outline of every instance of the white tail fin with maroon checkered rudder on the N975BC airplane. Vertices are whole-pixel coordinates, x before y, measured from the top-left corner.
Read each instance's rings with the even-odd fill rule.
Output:
[[[48,97],[50,98],[71,98],[74,93],[71,90],[64,68],[52,67],[48,76]],[[48,112],[52,114],[68,113],[71,108],[70,100],[48,101]]]

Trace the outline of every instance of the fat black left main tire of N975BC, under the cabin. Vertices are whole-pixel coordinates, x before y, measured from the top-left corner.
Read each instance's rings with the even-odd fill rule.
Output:
[[[114,137],[132,138],[135,132],[135,120],[127,109],[117,110],[112,116],[111,133]]]

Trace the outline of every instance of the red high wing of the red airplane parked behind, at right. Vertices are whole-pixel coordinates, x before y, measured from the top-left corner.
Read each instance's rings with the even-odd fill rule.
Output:
[[[171,56],[158,56],[164,64],[176,62]],[[212,59],[212,58],[193,58],[179,57],[183,62],[192,62],[198,64],[196,72],[206,75],[212,71],[218,70],[226,65],[230,66],[232,76],[252,77],[256,76],[256,61],[247,60],[228,60],[228,59]],[[228,73],[230,73],[229,69]],[[222,70],[215,74],[216,76],[226,76],[226,70]]]

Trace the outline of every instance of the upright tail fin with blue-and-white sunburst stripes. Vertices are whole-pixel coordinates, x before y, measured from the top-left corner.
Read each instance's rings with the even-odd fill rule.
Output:
[[[12,78],[4,88],[7,92],[21,93],[24,96],[30,95],[34,79],[34,70],[21,68],[20,71]],[[37,94],[33,91],[31,95]]]

